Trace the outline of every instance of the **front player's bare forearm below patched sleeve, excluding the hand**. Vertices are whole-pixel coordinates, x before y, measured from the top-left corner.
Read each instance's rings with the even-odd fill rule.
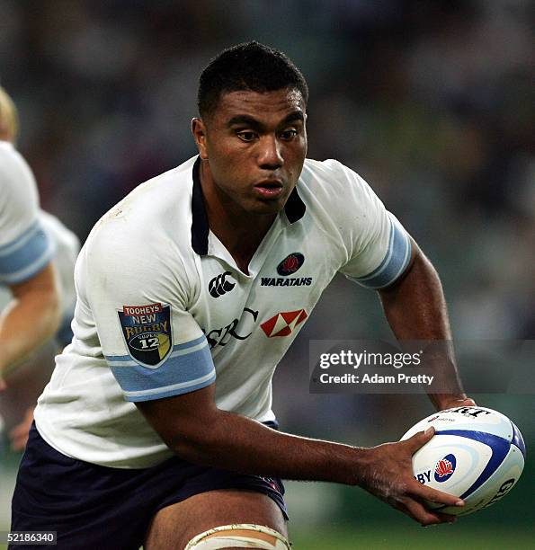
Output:
[[[152,404],[140,408],[154,424]],[[167,428],[162,428],[161,422],[156,421],[156,425],[168,447],[195,464],[242,474],[355,484],[355,466],[365,460],[366,449],[272,430],[261,422],[215,406],[199,409],[193,415],[194,423],[179,417],[165,422]],[[181,428],[177,430],[177,426]]]

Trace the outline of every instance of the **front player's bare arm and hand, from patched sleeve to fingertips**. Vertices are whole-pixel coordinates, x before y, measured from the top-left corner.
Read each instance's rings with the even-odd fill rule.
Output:
[[[422,525],[452,520],[426,510],[422,501],[454,505],[459,499],[424,486],[412,475],[411,457],[431,439],[432,430],[406,441],[354,448],[282,433],[221,411],[214,393],[212,384],[189,394],[136,404],[168,447],[196,464],[245,474],[356,484]]]

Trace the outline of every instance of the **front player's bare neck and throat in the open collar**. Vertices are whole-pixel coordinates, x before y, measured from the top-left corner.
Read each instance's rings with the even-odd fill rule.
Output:
[[[238,267],[247,272],[247,265],[277,215],[245,212],[213,184],[205,163],[201,163],[200,177],[210,230],[225,245]]]

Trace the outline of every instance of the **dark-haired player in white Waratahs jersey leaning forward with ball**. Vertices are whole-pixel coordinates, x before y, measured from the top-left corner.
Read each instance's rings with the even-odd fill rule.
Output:
[[[440,280],[396,217],[343,164],[306,159],[307,102],[281,52],[221,52],[200,78],[199,155],[94,226],[13,530],[69,549],[288,549],[281,478],[359,485],[422,525],[452,520],[425,500],[463,505],[413,477],[432,430],[375,448],[278,430],[274,368],[336,272],[379,290],[397,338],[450,339]],[[431,397],[474,404],[460,384]]]

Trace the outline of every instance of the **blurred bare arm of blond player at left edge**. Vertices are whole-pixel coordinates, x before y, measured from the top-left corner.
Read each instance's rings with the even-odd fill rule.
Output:
[[[60,317],[56,273],[52,263],[31,279],[9,285],[9,288],[13,300],[0,315],[2,376],[6,376],[13,364],[39,348],[58,330]]]

